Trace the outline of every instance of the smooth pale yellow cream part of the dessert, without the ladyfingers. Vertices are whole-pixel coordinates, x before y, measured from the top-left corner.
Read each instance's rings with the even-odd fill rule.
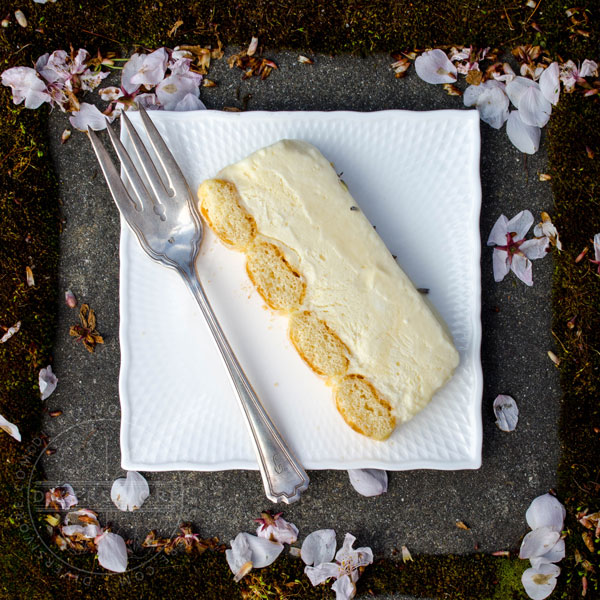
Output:
[[[346,344],[348,372],[369,379],[400,423],[424,408],[458,352],[319,150],[282,140],[217,177],[236,185],[258,231],[303,275],[303,308]]]

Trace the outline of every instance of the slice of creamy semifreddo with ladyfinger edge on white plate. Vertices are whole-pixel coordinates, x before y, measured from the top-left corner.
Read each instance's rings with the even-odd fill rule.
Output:
[[[384,440],[432,399],[459,354],[317,148],[282,140],[200,185],[199,209],[346,423]]]

